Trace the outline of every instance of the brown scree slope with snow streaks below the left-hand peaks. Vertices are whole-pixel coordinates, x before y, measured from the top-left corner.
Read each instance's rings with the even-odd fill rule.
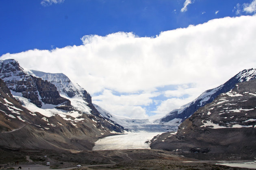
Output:
[[[36,106],[35,106],[36,107]],[[81,120],[59,115],[46,117],[32,112],[13,98],[0,79],[0,144],[8,148],[30,149],[91,149],[93,142],[109,131],[84,115]],[[96,119],[93,116],[93,119]],[[75,124],[76,123],[76,124]]]

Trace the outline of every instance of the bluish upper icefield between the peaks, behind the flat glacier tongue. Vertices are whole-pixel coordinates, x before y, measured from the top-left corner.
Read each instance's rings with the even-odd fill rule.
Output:
[[[176,126],[151,123],[148,119],[132,119],[125,116],[111,114],[100,106],[96,104],[93,105],[102,117],[111,120],[114,124],[122,125],[131,132],[169,132],[176,129]]]

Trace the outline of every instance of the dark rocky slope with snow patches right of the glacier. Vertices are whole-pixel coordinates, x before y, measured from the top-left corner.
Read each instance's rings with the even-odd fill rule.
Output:
[[[255,141],[256,80],[251,80],[237,83],[232,90],[199,108],[180,124],[177,133],[156,136],[150,147],[200,159],[253,159]]]

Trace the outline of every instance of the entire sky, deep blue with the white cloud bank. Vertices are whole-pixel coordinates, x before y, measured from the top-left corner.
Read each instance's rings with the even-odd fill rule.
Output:
[[[256,0],[0,0],[0,60],[157,119],[256,67],[255,13]]]

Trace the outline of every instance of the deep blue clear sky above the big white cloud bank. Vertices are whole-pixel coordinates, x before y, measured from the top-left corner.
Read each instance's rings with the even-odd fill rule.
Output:
[[[56,0],[58,2],[59,0]],[[156,36],[210,19],[237,16],[236,4],[252,0],[42,0],[0,1],[0,55],[29,49],[81,45],[84,35],[133,32]],[[48,4],[48,5],[47,5]],[[216,11],[219,11],[215,14]]]

